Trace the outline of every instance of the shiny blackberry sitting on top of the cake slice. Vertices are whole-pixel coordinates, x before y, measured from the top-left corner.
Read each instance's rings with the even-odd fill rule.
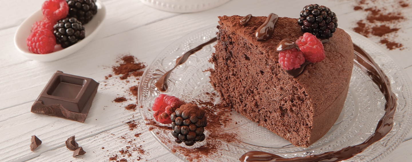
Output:
[[[311,33],[318,39],[329,39],[336,31],[337,18],[328,7],[318,4],[307,5],[300,11],[297,24],[302,26],[302,32]]]

